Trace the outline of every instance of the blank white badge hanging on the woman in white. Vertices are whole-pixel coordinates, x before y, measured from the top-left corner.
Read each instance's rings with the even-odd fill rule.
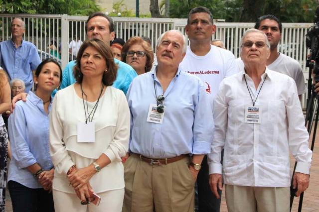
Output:
[[[94,122],[78,123],[78,143],[95,142],[95,125]]]

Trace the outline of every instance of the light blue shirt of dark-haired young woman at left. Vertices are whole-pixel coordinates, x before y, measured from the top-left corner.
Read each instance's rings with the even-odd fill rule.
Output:
[[[51,110],[51,104],[49,111]],[[13,180],[28,188],[42,188],[26,167],[38,163],[44,170],[53,167],[49,152],[49,115],[43,101],[29,92],[26,102],[16,103],[8,120],[12,159],[8,181]]]

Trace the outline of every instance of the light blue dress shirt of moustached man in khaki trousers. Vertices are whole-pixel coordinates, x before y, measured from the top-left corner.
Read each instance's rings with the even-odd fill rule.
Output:
[[[147,121],[150,104],[157,104],[163,89],[154,71],[139,75],[127,93],[131,110],[131,152],[150,158],[181,154],[207,154],[213,140],[214,121],[201,80],[177,71],[165,93],[162,124]]]

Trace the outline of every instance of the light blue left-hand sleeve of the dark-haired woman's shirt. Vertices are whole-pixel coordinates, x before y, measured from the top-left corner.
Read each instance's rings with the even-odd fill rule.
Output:
[[[8,129],[12,157],[16,160],[18,168],[22,169],[35,164],[37,161],[25,139],[26,120],[21,106],[16,105],[14,112],[10,115]]]

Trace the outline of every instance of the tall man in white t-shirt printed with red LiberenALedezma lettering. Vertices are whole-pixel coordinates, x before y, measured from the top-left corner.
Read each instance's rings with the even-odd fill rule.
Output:
[[[180,63],[181,70],[196,75],[204,82],[213,106],[219,83],[225,77],[238,72],[235,57],[230,51],[210,44],[216,26],[211,12],[206,7],[200,6],[190,10],[185,31],[190,46],[187,47],[186,55]],[[197,185],[199,212],[219,212],[220,199],[217,200],[209,189],[206,156],[201,164]]]

